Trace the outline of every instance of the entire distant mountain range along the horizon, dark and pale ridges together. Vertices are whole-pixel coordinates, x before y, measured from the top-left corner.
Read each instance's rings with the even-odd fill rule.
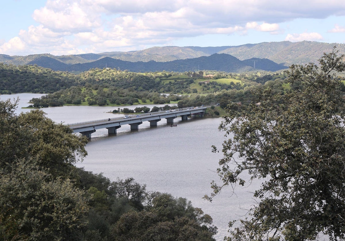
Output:
[[[9,56],[0,54],[5,64],[37,64],[60,71],[86,71],[91,68],[116,68],[134,72],[217,70],[243,72],[277,71],[291,64],[317,63],[323,53],[336,46],[345,53],[345,44],[320,42],[264,42],[220,47],[153,47],[140,51],[105,52],[54,56],[34,54]]]

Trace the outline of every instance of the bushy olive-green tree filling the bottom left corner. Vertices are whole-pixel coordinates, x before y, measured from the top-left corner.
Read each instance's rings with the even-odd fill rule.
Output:
[[[0,240],[82,240],[89,209],[85,192],[28,160],[11,167],[0,169]]]

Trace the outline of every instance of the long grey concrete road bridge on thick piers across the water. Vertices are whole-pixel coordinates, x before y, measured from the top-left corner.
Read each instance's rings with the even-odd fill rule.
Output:
[[[100,119],[97,121],[81,122],[74,124],[67,124],[73,133],[81,133],[82,135],[91,138],[91,134],[97,129],[107,128],[108,134],[116,134],[116,130],[122,125],[130,125],[131,130],[139,129],[139,125],[144,121],[150,122],[150,126],[157,126],[157,122],[161,119],[166,119],[168,124],[173,124],[174,119],[181,117],[182,120],[187,120],[190,115],[204,116],[205,109],[212,105],[196,106],[172,109],[168,111],[150,112],[150,113],[136,113],[134,115],[126,115],[117,118]]]

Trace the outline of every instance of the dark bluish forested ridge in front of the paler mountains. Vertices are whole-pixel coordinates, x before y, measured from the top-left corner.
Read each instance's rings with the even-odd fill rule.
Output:
[[[255,64],[254,64],[255,61]],[[212,54],[210,56],[200,56],[193,59],[173,60],[169,62],[156,62],[150,60],[148,62],[138,61],[130,62],[111,57],[103,57],[102,59],[77,64],[65,64],[59,60],[41,56],[40,58],[29,62],[28,64],[37,64],[41,67],[50,68],[54,71],[80,72],[93,68],[103,69],[105,67],[111,69],[128,70],[131,72],[156,72],[156,71],[199,71],[199,70],[215,70],[225,72],[245,72],[257,70],[278,71],[286,69],[284,65],[279,65],[268,59],[244,60],[241,61],[229,54]]]

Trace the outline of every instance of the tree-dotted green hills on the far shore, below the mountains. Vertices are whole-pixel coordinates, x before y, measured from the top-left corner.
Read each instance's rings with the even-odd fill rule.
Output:
[[[204,75],[213,74],[210,80]],[[117,69],[90,69],[80,74],[39,66],[0,65],[0,93],[50,93],[32,99],[33,107],[72,105],[132,105],[178,103],[179,107],[251,100],[250,90],[270,86],[289,90],[283,73],[236,74],[216,71],[135,73]],[[167,95],[162,95],[166,93]]]

